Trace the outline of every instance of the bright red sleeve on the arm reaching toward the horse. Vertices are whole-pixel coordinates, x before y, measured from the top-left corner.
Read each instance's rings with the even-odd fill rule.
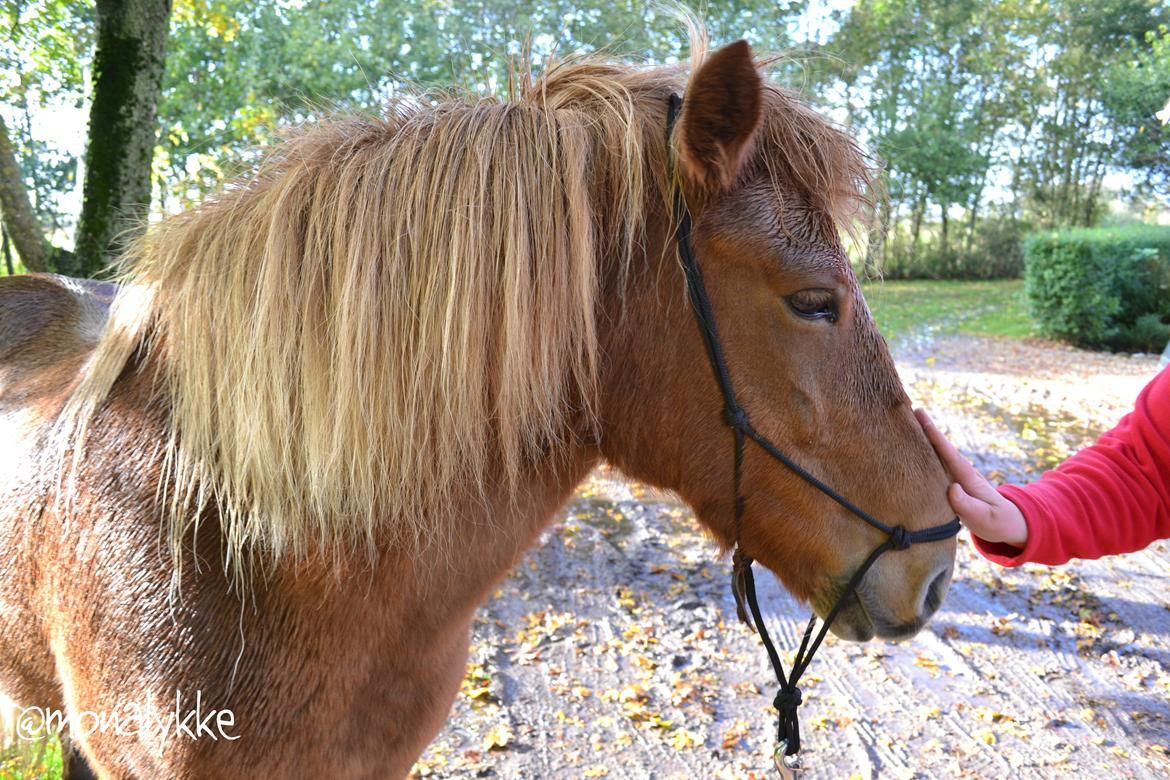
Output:
[[[1170,368],[1095,444],[1039,482],[999,492],[1020,508],[1028,526],[1023,550],[975,538],[976,548],[1003,566],[1101,558],[1170,537]]]

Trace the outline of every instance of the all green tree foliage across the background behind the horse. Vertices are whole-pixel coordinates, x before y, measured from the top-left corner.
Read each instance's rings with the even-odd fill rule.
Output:
[[[213,192],[316,113],[378,111],[410,87],[500,94],[512,68],[601,47],[660,62],[688,54],[676,20],[646,0],[173,6],[152,166],[165,210]],[[1170,95],[1170,7],[1159,0],[722,0],[700,12],[716,42],[811,54],[782,61],[782,77],[883,163],[878,223],[888,229],[869,236],[867,272],[1012,276],[1025,232],[1107,216],[1107,174],[1136,175],[1127,198],[1164,208],[1170,196],[1170,129],[1152,118]],[[37,216],[67,230],[61,195],[76,186],[76,159],[34,138],[26,119],[81,102],[91,4],[7,4],[0,23],[0,112]]]

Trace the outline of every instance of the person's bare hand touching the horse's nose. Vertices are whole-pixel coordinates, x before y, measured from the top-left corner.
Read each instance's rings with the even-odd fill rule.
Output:
[[[1027,543],[1027,523],[1019,508],[1000,496],[991,483],[959,455],[925,412],[915,409],[914,416],[918,419],[927,439],[955,479],[947,491],[947,498],[951,509],[963,520],[963,525],[985,541],[1002,541],[1023,547]]]

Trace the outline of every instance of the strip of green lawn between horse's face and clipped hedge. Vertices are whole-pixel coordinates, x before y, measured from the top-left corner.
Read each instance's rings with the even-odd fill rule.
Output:
[[[867,282],[861,289],[878,327],[890,340],[923,326],[998,338],[1037,332],[1021,279]]]

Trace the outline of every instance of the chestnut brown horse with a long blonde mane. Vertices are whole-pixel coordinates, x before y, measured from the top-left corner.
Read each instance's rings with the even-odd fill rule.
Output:
[[[949,518],[837,233],[865,158],[745,43],[695,49],[303,130],[151,229],[110,308],[4,279],[0,688],[137,713],[75,730],[101,776],[402,776],[473,612],[601,458],[730,544],[674,187],[756,428],[879,517]],[[744,490],[745,552],[824,614],[881,534],[758,450]],[[834,630],[916,631],[954,551],[885,557]]]

